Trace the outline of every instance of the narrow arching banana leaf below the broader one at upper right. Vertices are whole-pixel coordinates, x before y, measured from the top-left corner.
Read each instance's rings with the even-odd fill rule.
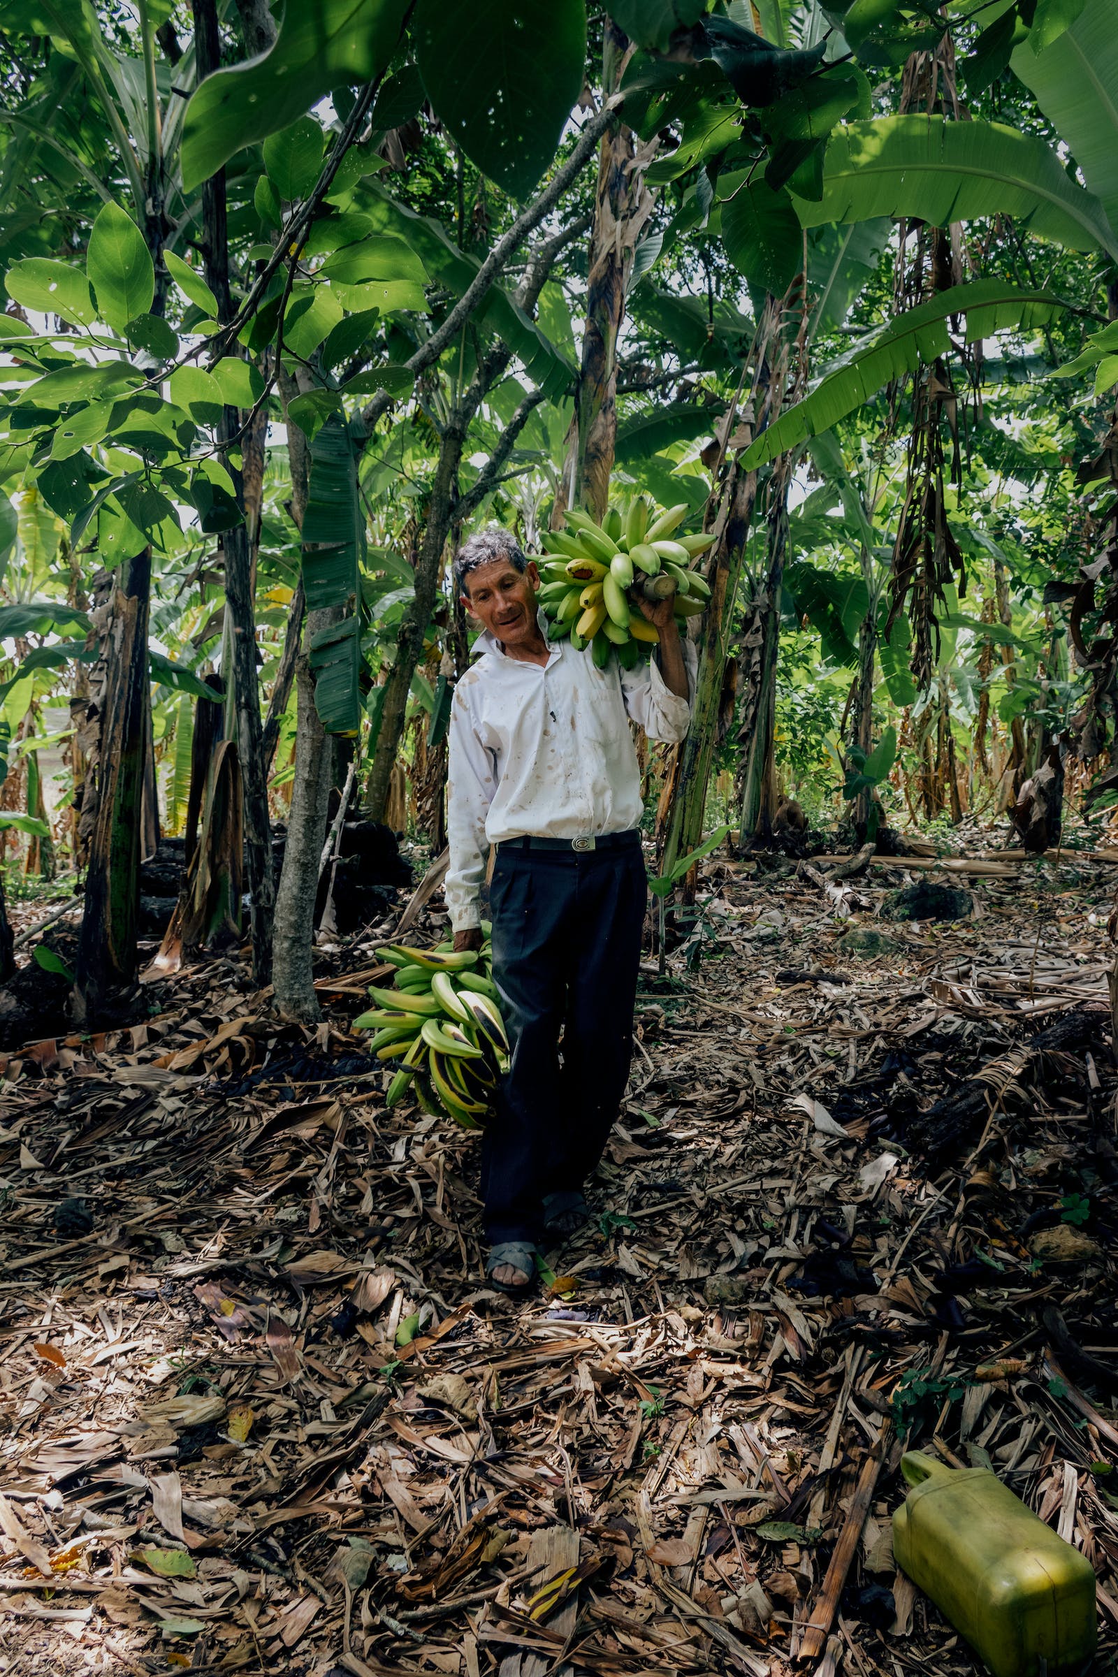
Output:
[[[830,431],[892,379],[912,372],[922,361],[945,356],[950,349],[947,322],[952,315],[965,317],[962,335],[974,344],[994,332],[1031,332],[1063,309],[1064,304],[1051,292],[1017,290],[1007,280],[954,285],[868,334],[835,362],[801,402],[761,433],[746,451],[743,465],[746,470],[759,466],[806,438]]]

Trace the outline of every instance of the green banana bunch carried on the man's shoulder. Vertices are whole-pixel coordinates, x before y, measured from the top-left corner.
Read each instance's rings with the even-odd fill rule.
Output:
[[[600,525],[572,508],[568,528],[543,537],[550,558],[541,565],[540,604],[550,619],[550,639],[568,636],[577,651],[590,646],[598,669],[617,651],[622,666],[632,669],[660,639],[640,610],[640,595],[647,600],[674,595],[675,617],[702,612],[711,590],[692,565],[714,545],[714,537],[674,537],[686,515],[686,505],[657,511],[644,495],[632,501],[624,520],[610,506]]]

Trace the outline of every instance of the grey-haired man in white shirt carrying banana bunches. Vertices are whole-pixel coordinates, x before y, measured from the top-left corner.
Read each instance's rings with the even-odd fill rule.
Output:
[[[588,649],[548,641],[540,574],[508,530],[466,542],[454,574],[484,634],[451,708],[446,899],[454,948],[478,949],[496,845],[493,978],[511,1067],[483,1139],[481,1192],[486,1275],[523,1293],[540,1238],[587,1219],[582,1186],[629,1078],[647,882],[627,718],[652,740],[682,740],[691,681],[670,599],[642,602],[660,634],[652,664],[597,669]]]

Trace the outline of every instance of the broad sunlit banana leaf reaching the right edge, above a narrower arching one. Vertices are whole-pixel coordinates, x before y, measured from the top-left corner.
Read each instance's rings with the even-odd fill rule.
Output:
[[[805,226],[872,216],[945,226],[1006,215],[1071,250],[1101,248],[1118,258],[1118,236],[1098,198],[1068,178],[1043,139],[999,122],[939,116],[850,122],[826,148],[823,196],[796,198],[796,210]]]

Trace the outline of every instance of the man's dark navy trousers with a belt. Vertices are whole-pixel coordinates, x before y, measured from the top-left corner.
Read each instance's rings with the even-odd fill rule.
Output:
[[[481,1145],[491,1244],[538,1239],[543,1196],[582,1187],[602,1157],[629,1080],[647,890],[637,833],[582,852],[498,847],[493,978],[511,1065]]]

